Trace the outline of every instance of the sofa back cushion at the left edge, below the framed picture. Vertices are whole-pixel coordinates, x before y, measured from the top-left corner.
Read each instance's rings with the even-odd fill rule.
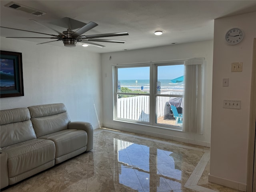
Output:
[[[1,110],[0,124],[1,148],[36,138],[28,108]]]

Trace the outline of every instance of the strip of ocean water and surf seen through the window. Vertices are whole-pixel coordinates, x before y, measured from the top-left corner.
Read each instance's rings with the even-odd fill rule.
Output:
[[[149,80],[119,80],[121,87],[127,87],[129,89],[141,89],[141,86],[144,89],[149,89],[150,84]],[[137,83],[136,83],[137,81]],[[183,90],[184,82],[172,83],[170,79],[161,79],[160,81],[160,89],[162,90]]]

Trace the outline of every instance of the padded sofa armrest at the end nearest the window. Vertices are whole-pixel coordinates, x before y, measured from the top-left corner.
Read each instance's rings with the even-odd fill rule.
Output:
[[[90,151],[93,148],[93,126],[88,122],[69,122],[68,129],[80,129],[87,132],[87,146],[86,151]]]

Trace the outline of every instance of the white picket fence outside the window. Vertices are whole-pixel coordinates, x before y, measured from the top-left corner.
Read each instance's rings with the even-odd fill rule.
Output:
[[[163,92],[161,94],[182,95],[183,92],[169,91]],[[169,113],[169,108],[167,106],[169,99],[170,97],[157,97],[157,118],[165,116]],[[127,98],[118,98],[117,117],[149,122],[149,96],[142,95]]]

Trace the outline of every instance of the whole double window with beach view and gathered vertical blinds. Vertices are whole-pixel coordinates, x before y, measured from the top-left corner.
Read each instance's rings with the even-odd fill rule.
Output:
[[[201,133],[203,63],[114,66],[114,120]]]

